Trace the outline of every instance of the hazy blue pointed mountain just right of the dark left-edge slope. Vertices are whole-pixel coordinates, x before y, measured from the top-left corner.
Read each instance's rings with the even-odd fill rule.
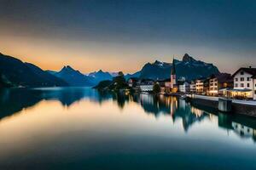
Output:
[[[73,87],[90,87],[94,86],[93,78],[84,76],[81,72],[75,71],[71,66],[64,66],[61,71],[48,71],[50,74],[55,77],[59,77],[65,82],[67,82],[70,86]]]

